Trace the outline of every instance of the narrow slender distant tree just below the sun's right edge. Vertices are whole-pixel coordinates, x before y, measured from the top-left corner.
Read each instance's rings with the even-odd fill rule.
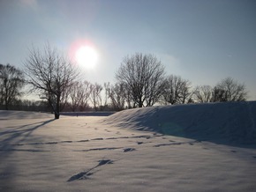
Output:
[[[98,109],[102,110],[102,85],[97,83],[90,85],[90,99],[94,105],[94,110],[97,111]]]

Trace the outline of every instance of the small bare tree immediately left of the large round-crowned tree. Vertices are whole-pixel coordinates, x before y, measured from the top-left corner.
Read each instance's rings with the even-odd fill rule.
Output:
[[[109,99],[111,101],[111,106],[116,111],[121,111],[124,109],[125,100],[127,98],[124,84],[115,84],[109,88]]]

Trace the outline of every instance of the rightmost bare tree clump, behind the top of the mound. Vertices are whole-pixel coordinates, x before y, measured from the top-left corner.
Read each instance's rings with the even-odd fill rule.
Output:
[[[212,101],[243,101],[246,97],[244,84],[238,84],[233,78],[225,78],[215,85]]]

